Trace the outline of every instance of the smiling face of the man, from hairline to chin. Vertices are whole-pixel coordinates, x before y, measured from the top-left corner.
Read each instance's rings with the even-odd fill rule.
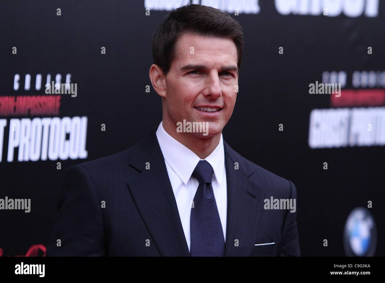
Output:
[[[163,119],[175,128],[183,120],[208,122],[207,136],[189,134],[216,136],[229,121],[235,105],[236,46],[231,39],[184,34],[175,47],[176,57],[166,76]]]

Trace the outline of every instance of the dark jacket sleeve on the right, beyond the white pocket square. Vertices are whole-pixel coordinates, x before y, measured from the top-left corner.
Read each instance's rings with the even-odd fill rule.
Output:
[[[297,191],[295,185],[289,181],[290,184],[290,199],[295,199],[297,204]],[[281,246],[279,256],[301,256],[300,243],[298,241],[297,231],[297,205],[295,205],[295,212],[286,211],[285,222],[282,227]]]

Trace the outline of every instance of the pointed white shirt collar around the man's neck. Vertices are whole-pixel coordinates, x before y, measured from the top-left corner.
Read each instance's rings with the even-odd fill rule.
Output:
[[[187,185],[187,182],[191,178],[192,172],[200,159],[193,151],[181,144],[179,141],[170,136],[163,128],[163,122],[161,122],[156,131],[156,137],[161,147],[161,151],[164,160],[169,164],[171,169],[178,175],[182,182]],[[213,152],[206,157],[207,162],[213,167],[215,178],[221,185],[223,166],[224,166],[224,147],[223,137]]]

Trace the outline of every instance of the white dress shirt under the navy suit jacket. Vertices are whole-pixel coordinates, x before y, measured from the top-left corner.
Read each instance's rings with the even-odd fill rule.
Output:
[[[214,169],[213,190],[218,207],[219,218],[221,218],[223,236],[226,241],[226,219],[227,219],[227,182],[226,167],[224,164],[223,137],[218,146],[206,157],[200,159],[194,152],[170,136],[163,128],[162,122],[156,131],[156,137],[166,163],[167,173],[171,182],[172,190],[178,206],[184,236],[190,250],[190,214],[191,203],[198,189],[198,180],[191,176],[200,160],[206,160]]]

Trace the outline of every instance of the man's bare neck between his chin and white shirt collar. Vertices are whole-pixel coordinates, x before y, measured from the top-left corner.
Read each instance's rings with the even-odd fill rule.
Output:
[[[218,146],[219,141],[221,140],[221,133],[212,137],[202,138],[194,136],[193,133],[179,133],[176,131],[176,126],[172,126],[164,120],[162,125],[167,134],[194,152],[200,159],[208,157]]]

